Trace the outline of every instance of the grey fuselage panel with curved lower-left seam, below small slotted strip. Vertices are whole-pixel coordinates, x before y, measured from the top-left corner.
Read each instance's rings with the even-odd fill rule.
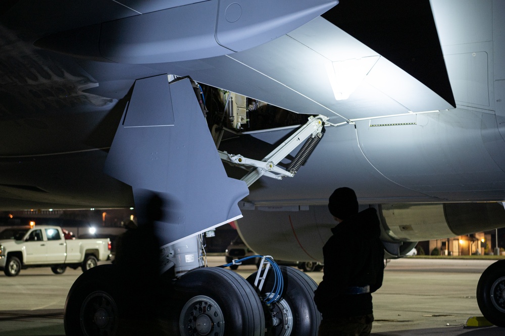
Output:
[[[482,141],[480,114],[458,109],[423,117],[428,118],[425,126],[358,128],[365,155],[382,174],[426,194],[483,190],[505,182]]]

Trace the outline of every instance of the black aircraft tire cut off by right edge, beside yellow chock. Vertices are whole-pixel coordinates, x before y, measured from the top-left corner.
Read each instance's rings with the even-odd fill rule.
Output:
[[[482,272],[477,304],[489,322],[505,327],[505,260],[496,261]]]

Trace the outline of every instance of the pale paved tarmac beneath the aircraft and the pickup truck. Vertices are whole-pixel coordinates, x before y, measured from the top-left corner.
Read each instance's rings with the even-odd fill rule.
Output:
[[[208,258],[210,266],[224,256]],[[391,260],[383,287],[374,294],[374,335],[503,335],[505,328],[467,328],[468,318],[482,316],[476,287],[493,260]],[[252,265],[239,266],[247,276]],[[16,277],[0,273],[0,335],[64,335],[63,308],[67,293],[81,270],[56,275],[49,268],[24,269]],[[323,272],[309,272],[319,283]]]

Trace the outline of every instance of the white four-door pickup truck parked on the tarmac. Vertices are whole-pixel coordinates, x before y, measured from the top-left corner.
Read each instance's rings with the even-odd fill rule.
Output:
[[[16,276],[22,268],[49,266],[55,274],[71,267],[83,271],[111,258],[111,240],[65,239],[62,228],[37,225],[0,232],[0,269]]]

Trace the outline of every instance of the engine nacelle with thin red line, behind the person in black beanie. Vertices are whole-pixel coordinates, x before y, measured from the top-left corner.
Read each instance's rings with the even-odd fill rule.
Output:
[[[378,210],[381,240],[390,257],[418,241],[456,237],[505,226],[501,203],[371,205]],[[360,211],[368,207],[361,205]],[[237,228],[253,251],[287,261],[323,261],[323,246],[336,225],[326,205],[242,209]],[[359,237],[342,237],[359,239]],[[349,251],[352,253],[352,251]],[[342,256],[345,257],[345,256]]]

